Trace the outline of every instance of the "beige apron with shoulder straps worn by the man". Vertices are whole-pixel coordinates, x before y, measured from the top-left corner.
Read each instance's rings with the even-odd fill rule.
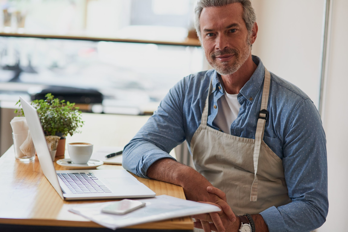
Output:
[[[267,110],[270,73],[265,68],[261,109]],[[214,187],[226,193],[227,203],[237,215],[259,214],[271,206],[291,202],[285,183],[282,159],[264,141],[266,114],[259,117],[255,139],[241,138],[207,126],[209,95],[201,124],[191,140],[193,163]]]

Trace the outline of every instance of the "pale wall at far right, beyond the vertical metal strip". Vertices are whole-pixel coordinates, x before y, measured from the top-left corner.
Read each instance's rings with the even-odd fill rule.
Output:
[[[348,231],[348,1],[332,1],[323,114],[329,172],[329,215],[317,232]]]

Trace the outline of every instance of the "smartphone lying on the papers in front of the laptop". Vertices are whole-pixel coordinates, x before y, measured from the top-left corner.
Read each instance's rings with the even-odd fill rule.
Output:
[[[108,214],[127,214],[144,206],[145,203],[141,201],[124,199],[105,206],[102,208],[102,212]]]

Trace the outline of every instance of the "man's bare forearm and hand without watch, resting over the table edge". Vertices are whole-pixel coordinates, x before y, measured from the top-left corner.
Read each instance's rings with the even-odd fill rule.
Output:
[[[148,168],[147,176],[155,180],[182,186],[186,199],[212,202],[222,209],[223,214],[230,222],[236,221],[236,215],[227,204],[224,193],[219,190],[222,192],[219,197],[214,194],[214,192],[207,191],[207,188],[212,186],[212,184],[195,169],[176,162],[173,159],[165,158],[153,163]],[[220,229],[219,231],[225,231],[223,222],[217,213],[211,213],[212,216],[210,216],[210,214],[208,215],[211,222],[216,223]],[[211,217],[213,217],[214,220]]]

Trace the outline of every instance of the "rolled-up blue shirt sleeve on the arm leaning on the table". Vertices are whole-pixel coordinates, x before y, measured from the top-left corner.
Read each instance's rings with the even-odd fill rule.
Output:
[[[185,79],[178,82],[161,101],[145,125],[125,146],[122,166],[137,176],[148,178],[148,168],[185,140],[183,102]],[[175,159],[174,159],[175,160]]]

